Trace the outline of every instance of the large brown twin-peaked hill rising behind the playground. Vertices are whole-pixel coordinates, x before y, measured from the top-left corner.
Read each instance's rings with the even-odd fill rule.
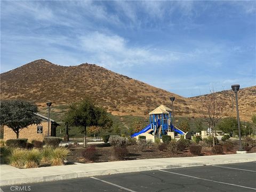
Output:
[[[171,107],[171,95],[176,115],[196,115],[192,99],[88,63],[65,67],[40,59],[1,74],[2,100],[33,100],[39,108],[90,97],[113,115],[143,116],[161,104]]]

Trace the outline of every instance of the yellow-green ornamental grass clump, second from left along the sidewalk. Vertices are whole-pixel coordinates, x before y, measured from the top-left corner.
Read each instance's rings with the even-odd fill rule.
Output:
[[[42,159],[42,154],[38,149],[26,150],[24,154],[25,168],[38,167]]]

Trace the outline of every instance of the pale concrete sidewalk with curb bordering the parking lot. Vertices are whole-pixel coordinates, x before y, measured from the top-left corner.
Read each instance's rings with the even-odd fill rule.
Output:
[[[18,169],[10,165],[1,164],[0,182],[1,186],[5,186],[30,182],[45,182],[91,177],[96,175],[107,175],[115,173],[129,173],[188,166],[242,163],[252,161],[256,161],[256,153],[141,159],[132,161],[89,164],[77,163],[75,165],[38,167],[31,169]]]

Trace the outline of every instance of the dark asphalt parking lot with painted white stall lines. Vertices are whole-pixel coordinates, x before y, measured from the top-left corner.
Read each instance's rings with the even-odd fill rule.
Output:
[[[4,192],[255,191],[256,162],[113,174],[1,188]]]

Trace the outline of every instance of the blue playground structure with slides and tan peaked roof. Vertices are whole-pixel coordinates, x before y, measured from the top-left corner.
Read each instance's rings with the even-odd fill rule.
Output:
[[[150,124],[138,133],[134,133],[131,137],[146,136],[146,139],[162,138],[162,135],[170,135],[175,137],[175,133],[187,135],[172,124],[171,109],[161,105],[149,113]]]

